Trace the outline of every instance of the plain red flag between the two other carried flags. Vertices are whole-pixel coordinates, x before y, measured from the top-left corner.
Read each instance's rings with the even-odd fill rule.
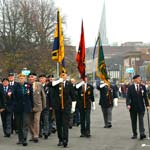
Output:
[[[78,52],[76,55],[76,61],[78,63],[78,70],[81,75],[81,78],[85,80],[85,41],[84,41],[83,21],[81,25],[81,36],[80,36]]]

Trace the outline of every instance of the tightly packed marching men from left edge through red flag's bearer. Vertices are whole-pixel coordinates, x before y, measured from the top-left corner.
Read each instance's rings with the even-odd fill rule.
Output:
[[[37,78],[35,73],[28,76],[19,74],[17,82],[14,74],[2,79],[0,84],[0,112],[5,137],[10,137],[13,129],[18,135],[17,144],[27,146],[28,130],[31,139],[37,143],[39,137],[45,139],[52,130],[52,116],[56,121],[58,146],[67,147],[69,139],[70,114],[76,111],[81,124],[81,137],[90,137],[91,104],[94,109],[93,86],[85,81],[78,84],[67,79],[62,71],[59,79],[44,74]]]

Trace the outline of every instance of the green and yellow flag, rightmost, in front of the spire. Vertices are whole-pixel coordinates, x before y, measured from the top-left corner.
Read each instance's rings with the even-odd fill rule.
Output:
[[[100,39],[100,34],[98,36],[99,45],[98,45],[98,59],[97,59],[97,68],[96,68],[96,76],[103,80],[105,83],[109,83],[108,74],[104,59],[103,46]]]

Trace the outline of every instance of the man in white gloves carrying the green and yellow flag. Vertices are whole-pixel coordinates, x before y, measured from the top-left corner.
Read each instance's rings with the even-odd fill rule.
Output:
[[[99,105],[103,113],[104,128],[111,128],[113,104],[118,99],[117,91],[113,85],[104,83],[104,81],[97,85],[97,89],[100,91]]]

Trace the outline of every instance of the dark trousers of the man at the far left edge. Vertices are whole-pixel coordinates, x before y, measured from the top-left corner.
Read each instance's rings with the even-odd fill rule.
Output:
[[[4,135],[10,135],[12,131],[12,112],[3,111],[1,113]]]

